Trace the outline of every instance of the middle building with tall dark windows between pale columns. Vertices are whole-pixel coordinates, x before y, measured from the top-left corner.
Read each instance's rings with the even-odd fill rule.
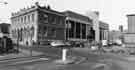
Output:
[[[65,11],[63,13],[66,15],[66,39],[71,41],[87,41],[92,29],[92,20],[87,16],[72,11]]]

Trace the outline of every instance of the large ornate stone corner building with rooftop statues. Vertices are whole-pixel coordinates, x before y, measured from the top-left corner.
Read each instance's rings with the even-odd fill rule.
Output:
[[[65,15],[50,6],[35,6],[12,13],[11,30],[14,42],[23,45],[43,44],[65,39]]]

